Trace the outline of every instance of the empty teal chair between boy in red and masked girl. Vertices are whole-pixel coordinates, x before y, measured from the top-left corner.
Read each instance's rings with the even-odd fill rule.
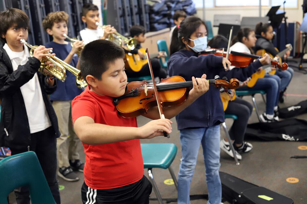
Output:
[[[148,177],[153,185],[153,191],[157,196],[157,200],[160,204],[163,204],[162,197],[158,190],[157,184],[153,179],[153,168],[169,169],[175,187],[177,189],[178,182],[172,167],[170,166],[176,157],[177,147],[173,143],[149,143],[141,144],[142,156],[144,161],[144,169],[148,169]]]

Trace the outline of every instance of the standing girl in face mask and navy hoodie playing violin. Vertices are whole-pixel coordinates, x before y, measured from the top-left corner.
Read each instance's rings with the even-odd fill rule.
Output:
[[[198,17],[187,17],[179,28],[175,28],[170,46],[170,59],[167,61],[169,76],[179,75],[190,80],[192,76],[226,76],[245,81],[259,67],[269,63],[267,58],[257,60],[248,68],[225,71],[231,63],[223,57],[201,55],[198,52],[207,48],[206,24]],[[176,116],[182,160],[178,174],[178,204],[189,204],[189,191],[194,173],[200,143],[203,147],[208,185],[208,204],[220,204],[222,186],[220,182],[220,123],[224,121],[224,109],[220,91],[213,86],[191,106]]]

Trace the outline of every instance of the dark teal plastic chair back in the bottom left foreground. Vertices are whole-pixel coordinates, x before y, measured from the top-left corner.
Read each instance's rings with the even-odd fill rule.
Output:
[[[0,203],[15,188],[28,186],[32,204],[55,204],[41,165],[33,151],[6,157],[0,161]]]

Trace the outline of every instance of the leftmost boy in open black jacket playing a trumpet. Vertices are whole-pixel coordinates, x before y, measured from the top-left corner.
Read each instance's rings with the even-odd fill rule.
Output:
[[[56,180],[56,137],[60,135],[56,114],[47,94],[56,89],[53,77],[38,68],[52,48],[29,49],[20,43],[28,38],[29,17],[19,9],[0,13],[0,147],[10,147],[12,155],[26,151],[37,154],[56,203],[60,192]],[[30,203],[28,187],[15,189],[17,203]]]

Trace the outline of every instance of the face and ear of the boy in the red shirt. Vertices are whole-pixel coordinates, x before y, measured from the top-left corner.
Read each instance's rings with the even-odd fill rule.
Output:
[[[103,72],[101,78],[87,75],[86,81],[90,90],[101,96],[119,97],[125,94],[127,75],[123,59],[115,59],[109,63],[107,71]]]

